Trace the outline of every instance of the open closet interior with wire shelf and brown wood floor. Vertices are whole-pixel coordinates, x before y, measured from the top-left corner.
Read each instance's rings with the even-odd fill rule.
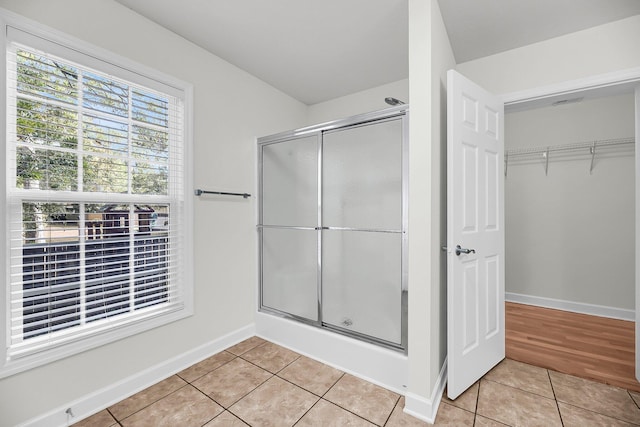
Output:
[[[640,390],[635,114],[633,92],[507,110],[506,300],[530,305],[507,303],[506,347],[516,360]]]

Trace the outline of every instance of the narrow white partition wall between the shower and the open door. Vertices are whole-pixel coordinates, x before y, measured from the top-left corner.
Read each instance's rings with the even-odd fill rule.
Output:
[[[435,417],[446,356],[446,70],[455,60],[436,0],[409,1],[409,387]],[[431,419],[433,421],[433,419]]]

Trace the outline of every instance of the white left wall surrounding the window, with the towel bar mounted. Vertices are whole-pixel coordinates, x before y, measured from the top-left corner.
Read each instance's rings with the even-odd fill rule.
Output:
[[[112,0],[2,0],[0,7],[194,85],[194,184],[255,194],[255,138],[300,127],[307,107]],[[195,315],[0,380],[15,425],[253,323],[255,197],[195,200]]]

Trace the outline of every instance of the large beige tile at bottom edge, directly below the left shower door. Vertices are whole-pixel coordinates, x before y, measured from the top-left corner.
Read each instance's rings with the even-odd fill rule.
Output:
[[[318,400],[318,396],[274,376],[229,411],[254,427],[292,426]]]

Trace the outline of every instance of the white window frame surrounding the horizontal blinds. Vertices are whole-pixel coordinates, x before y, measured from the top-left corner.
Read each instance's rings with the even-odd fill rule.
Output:
[[[46,350],[30,353],[18,358],[9,357],[9,343],[11,326],[11,313],[9,304],[11,302],[10,290],[10,250],[9,245],[0,245],[0,260],[2,260],[3,283],[5,288],[0,292],[0,310],[4,314],[0,316],[0,378],[7,377],[18,372],[32,369],[64,357],[68,357],[91,348],[102,346],[114,342],[116,340],[138,334],[170,322],[191,316],[194,310],[193,302],[193,196],[191,188],[193,188],[193,85],[176,79],[175,77],[166,75],[158,70],[136,63],[130,59],[117,55],[103,48],[94,46],[90,43],[79,40],[75,37],[64,34],[60,31],[43,26],[35,21],[24,18],[20,15],[11,13],[4,9],[0,9],[0,25],[2,31],[0,40],[2,41],[2,49],[0,49],[0,132],[7,135],[8,129],[7,117],[9,113],[8,93],[7,93],[7,27],[18,29],[22,32],[29,33],[34,43],[39,39],[45,39],[63,47],[64,50],[71,49],[83,57],[83,63],[92,68],[110,73],[121,78],[135,82],[138,76],[144,76],[147,79],[160,83],[162,89],[166,90],[169,86],[175,91],[172,95],[179,97],[184,104],[183,115],[183,199],[180,200],[182,205],[181,216],[184,223],[181,224],[183,234],[181,235],[181,253],[179,256],[179,277],[180,292],[182,294],[183,306],[180,310],[170,311],[160,316],[139,320],[130,324],[119,325],[117,328],[111,328],[106,331],[100,331],[90,334],[81,339],[65,343],[58,347],[47,348]],[[32,46],[37,48],[37,46]],[[55,52],[51,52],[55,53]],[[73,58],[70,58],[73,60]],[[93,62],[93,63],[87,63]],[[99,64],[99,66],[97,66]],[[10,237],[9,221],[9,204],[8,204],[8,186],[15,180],[15,168],[6,167],[7,165],[7,148],[6,146],[0,150],[0,164],[5,167],[4,173],[0,174],[0,192],[3,203],[0,204],[0,217],[5,218],[4,226],[0,227],[0,241],[8,242]],[[13,169],[13,170],[12,170]],[[12,176],[13,174],[13,176]]]

